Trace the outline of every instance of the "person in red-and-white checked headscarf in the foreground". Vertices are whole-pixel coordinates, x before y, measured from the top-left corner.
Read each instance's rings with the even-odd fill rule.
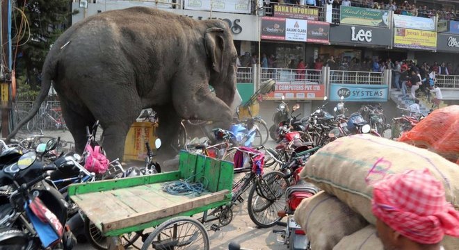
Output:
[[[389,175],[375,183],[371,210],[386,250],[440,250],[444,235],[459,238],[459,212],[428,169]]]

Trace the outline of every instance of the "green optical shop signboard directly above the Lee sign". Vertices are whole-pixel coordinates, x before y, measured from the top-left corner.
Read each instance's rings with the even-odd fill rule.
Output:
[[[389,12],[387,10],[341,6],[340,22],[341,24],[387,28],[389,26]]]

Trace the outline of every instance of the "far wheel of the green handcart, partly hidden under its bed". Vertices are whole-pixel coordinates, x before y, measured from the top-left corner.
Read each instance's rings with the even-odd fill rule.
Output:
[[[99,228],[90,222],[88,218],[84,220],[84,234],[86,235],[86,238],[92,247],[95,249],[108,249],[107,238],[102,235],[102,232],[99,230]],[[124,233],[124,235],[120,237],[120,240],[124,247],[129,247],[134,244],[138,238],[140,238],[140,235],[142,235],[142,232]]]

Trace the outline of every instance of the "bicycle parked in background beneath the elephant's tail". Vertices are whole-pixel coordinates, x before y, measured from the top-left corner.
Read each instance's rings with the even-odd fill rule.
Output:
[[[47,102],[45,107],[40,108],[38,114],[26,124],[26,128],[27,131],[33,133],[52,128],[63,129],[63,131],[65,131],[67,126],[63,119],[61,107],[53,108],[49,102]]]

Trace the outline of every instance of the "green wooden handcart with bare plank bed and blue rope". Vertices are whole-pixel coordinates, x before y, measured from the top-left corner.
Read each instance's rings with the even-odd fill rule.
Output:
[[[143,250],[210,249],[202,223],[209,221],[208,210],[214,215],[219,211],[220,223],[225,217],[233,175],[230,162],[182,151],[178,171],[71,185],[68,193],[111,242],[124,233],[154,228],[144,239]],[[179,179],[200,182],[207,192],[181,196],[162,190],[163,184]],[[199,220],[191,217],[200,213],[203,215]]]

